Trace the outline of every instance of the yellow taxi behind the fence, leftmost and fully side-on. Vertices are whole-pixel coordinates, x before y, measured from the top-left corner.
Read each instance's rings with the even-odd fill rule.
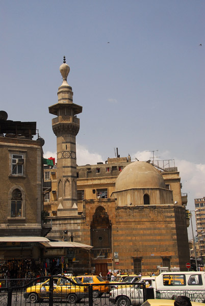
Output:
[[[70,282],[70,279],[76,285]],[[83,284],[75,277],[67,279],[64,277],[54,277],[53,282],[54,299],[65,299],[68,303],[75,303],[76,301],[80,301],[82,298],[88,297],[88,288],[85,286],[79,286]],[[28,287],[23,296],[30,303],[49,299],[49,278],[43,283],[37,283],[34,286]]]

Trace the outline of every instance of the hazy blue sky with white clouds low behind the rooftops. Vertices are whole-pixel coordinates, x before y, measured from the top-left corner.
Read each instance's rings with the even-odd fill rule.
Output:
[[[205,196],[204,15],[203,0],[2,1],[1,110],[37,121],[45,156],[55,154],[48,106],[65,55],[83,106],[77,163],[158,149],[193,209]]]

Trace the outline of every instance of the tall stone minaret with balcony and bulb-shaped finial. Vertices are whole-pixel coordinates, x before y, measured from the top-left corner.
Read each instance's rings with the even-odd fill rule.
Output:
[[[50,114],[57,116],[52,119],[52,127],[57,136],[57,214],[60,217],[78,216],[75,136],[80,129],[80,119],[76,114],[82,113],[83,108],[72,101],[72,87],[67,83],[69,71],[64,57],[60,66],[63,83],[58,89],[58,103],[48,108]]]

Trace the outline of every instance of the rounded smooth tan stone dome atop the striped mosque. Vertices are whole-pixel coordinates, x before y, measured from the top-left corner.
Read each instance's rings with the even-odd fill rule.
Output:
[[[115,191],[133,188],[166,188],[162,174],[151,164],[133,162],[118,175]]]

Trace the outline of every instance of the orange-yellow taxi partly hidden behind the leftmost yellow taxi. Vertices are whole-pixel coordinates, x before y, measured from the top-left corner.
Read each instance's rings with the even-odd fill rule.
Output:
[[[98,275],[80,275],[76,276],[83,284],[95,284],[93,285],[93,297],[98,297],[102,295],[103,293],[109,292],[109,281],[104,281],[100,276]],[[97,284],[100,284],[100,286],[97,286]]]

